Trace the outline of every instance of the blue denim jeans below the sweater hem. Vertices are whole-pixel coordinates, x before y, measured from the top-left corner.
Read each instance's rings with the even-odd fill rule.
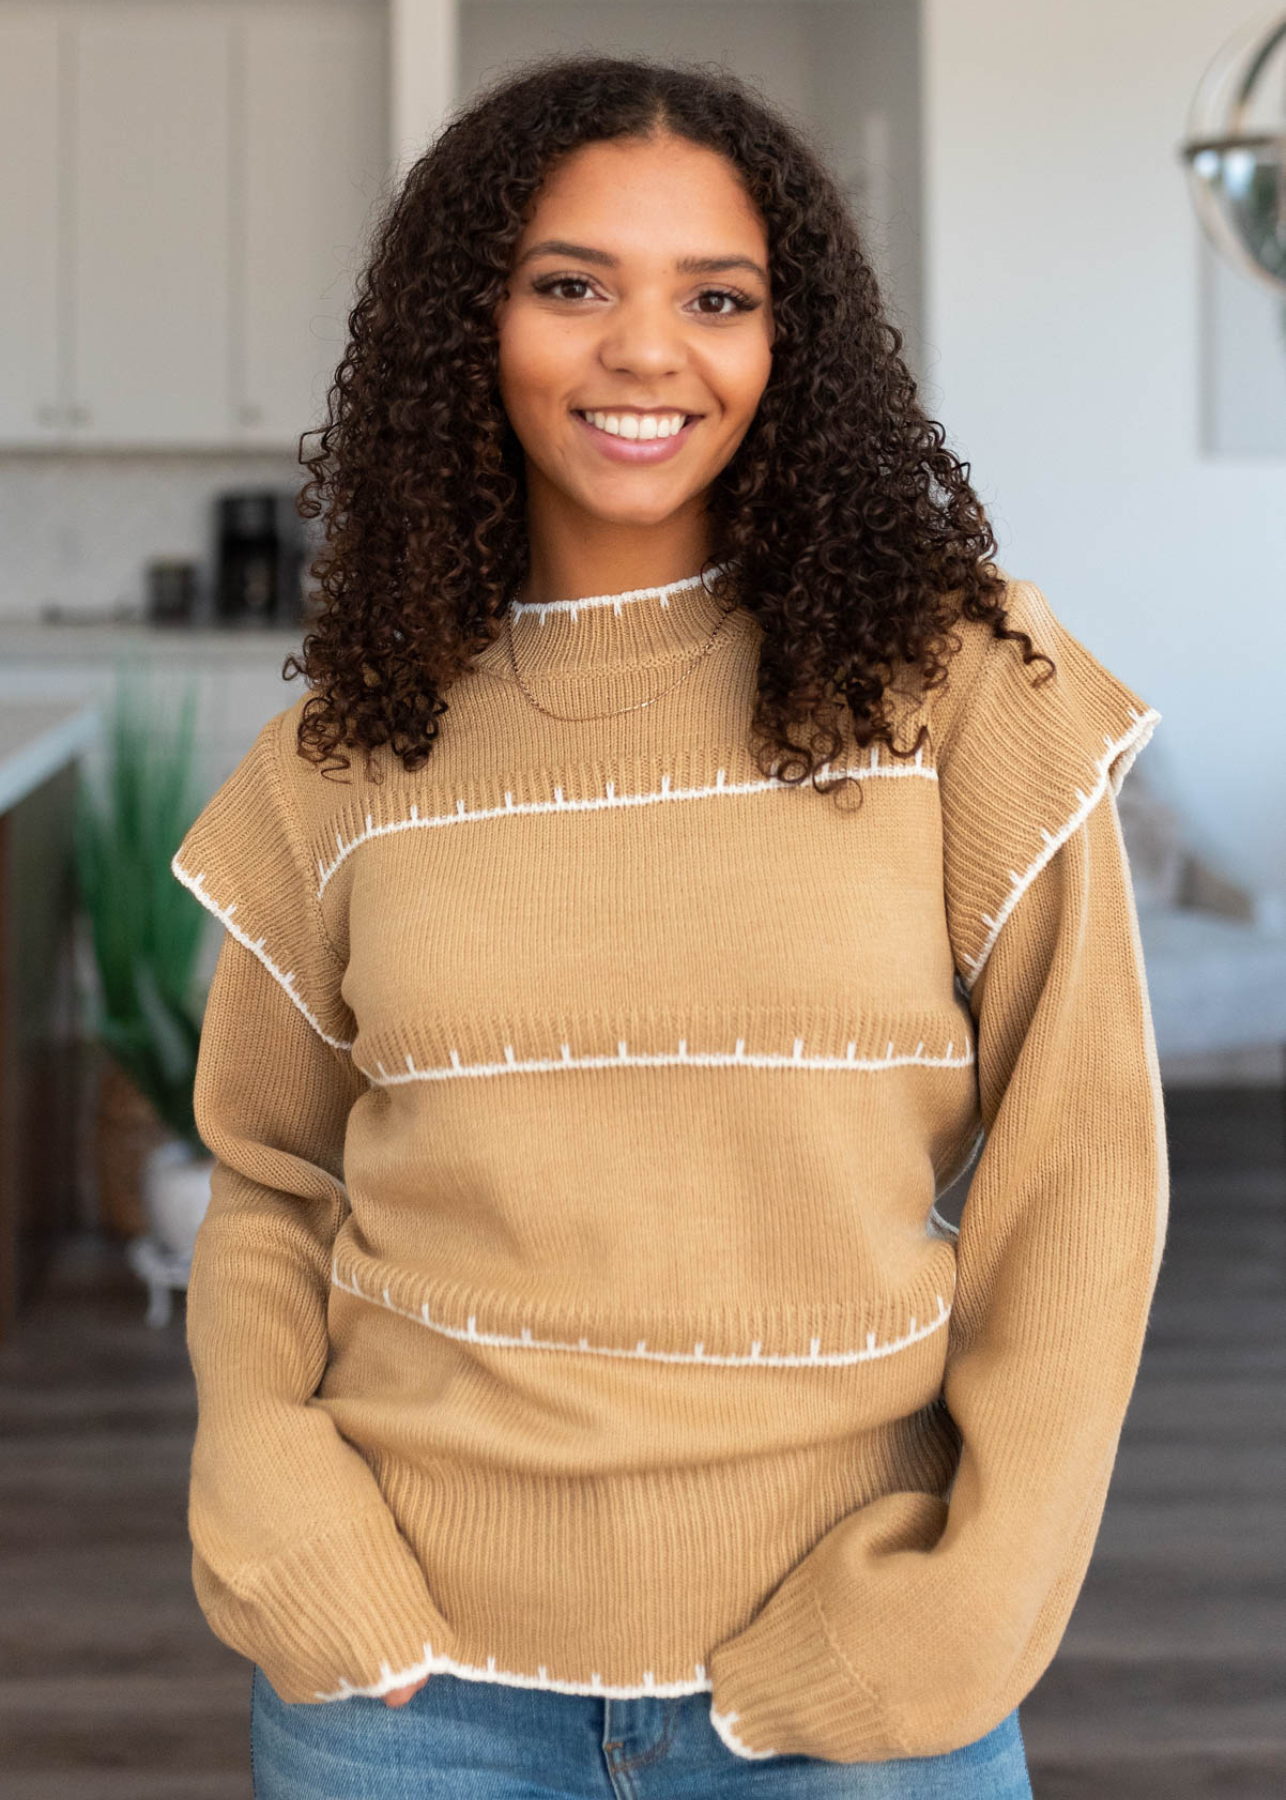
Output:
[[[429,1676],[405,1706],[290,1705],[256,1665],[256,1800],[1030,1800],[1018,1710],[964,1750],[895,1762],[738,1757],[710,1694],[598,1699]]]

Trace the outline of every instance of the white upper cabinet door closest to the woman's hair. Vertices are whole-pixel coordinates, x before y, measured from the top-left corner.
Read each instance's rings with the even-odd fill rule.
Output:
[[[241,443],[295,448],[324,414],[366,230],[389,173],[384,11],[259,0],[241,14],[234,85]]]

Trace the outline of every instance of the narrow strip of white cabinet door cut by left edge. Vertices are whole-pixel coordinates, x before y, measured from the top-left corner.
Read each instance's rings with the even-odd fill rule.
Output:
[[[65,427],[58,358],[58,16],[0,7],[0,441]]]

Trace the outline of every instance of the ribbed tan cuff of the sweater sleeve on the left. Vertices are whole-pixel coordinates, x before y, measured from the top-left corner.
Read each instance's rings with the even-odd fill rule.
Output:
[[[387,1507],[371,1507],[223,1586],[193,1584],[218,1638],[288,1703],[387,1694],[432,1672],[454,1636]]]

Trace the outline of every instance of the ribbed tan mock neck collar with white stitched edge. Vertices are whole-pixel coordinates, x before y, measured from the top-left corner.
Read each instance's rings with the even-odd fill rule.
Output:
[[[513,679],[510,630],[526,680],[684,661],[704,648],[728,608],[726,599],[710,592],[715,574],[726,567],[715,563],[704,578],[695,572],[663,587],[632,587],[620,594],[510,601],[501,634],[474,664]],[[729,628],[731,621],[724,632]]]

